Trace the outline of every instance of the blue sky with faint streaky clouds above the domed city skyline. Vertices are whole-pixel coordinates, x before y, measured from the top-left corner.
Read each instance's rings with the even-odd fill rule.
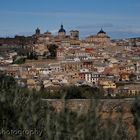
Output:
[[[1,0],[0,37],[57,34],[63,24],[67,34],[95,35],[103,28],[113,38],[140,37],[140,0]]]

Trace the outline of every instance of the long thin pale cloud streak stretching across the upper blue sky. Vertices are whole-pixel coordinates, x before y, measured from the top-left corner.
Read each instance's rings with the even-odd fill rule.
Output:
[[[28,15],[28,16],[67,16],[79,18],[96,18],[102,20],[137,20],[138,16],[128,16],[119,14],[104,14],[95,12],[72,12],[72,11],[52,11],[52,12],[34,12],[34,11],[1,11],[0,15]]]

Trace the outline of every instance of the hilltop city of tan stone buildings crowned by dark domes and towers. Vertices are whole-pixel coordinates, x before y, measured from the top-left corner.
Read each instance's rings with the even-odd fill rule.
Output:
[[[102,28],[79,34],[61,25],[57,35],[37,28],[32,36],[0,38],[0,71],[31,90],[87,85],[105,96],[140,94],[140,38],[111,39]]]

